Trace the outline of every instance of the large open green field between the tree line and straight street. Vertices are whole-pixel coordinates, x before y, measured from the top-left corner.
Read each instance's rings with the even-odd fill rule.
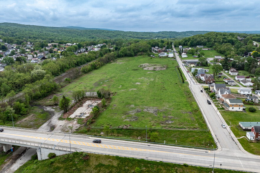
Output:
[[[144,63],[166,65],[167,69],[147,71],[138,67]],[[91,124],[96,129],[81,127],[78,133],[99,135],[103,131],[100,128],[108,125],[109,137],[136,140],[140,136],[144,141],[147,126],[148,138],[152,131],[159,133],[156,142],[208,147],[213,139],[188,83],[180,83],[176,65],[170,58],[122,58],[82,76],[60,93],[72,97],[71,92],[78,89],[100,88],[114,93],[111,104]]]

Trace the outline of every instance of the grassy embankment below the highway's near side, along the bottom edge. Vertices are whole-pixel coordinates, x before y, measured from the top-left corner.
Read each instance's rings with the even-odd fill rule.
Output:
[[[17,169],[16,173],[22,172],[211,172],[212,168],[184,166],[181,164],[172,164],[164,162],[148,161],[144,159],[133,159],[125,157],[115,157],[99,154],[88,154],[89,158],[83,157],[83,153],[76,152],[65,154],[53,159],[38,161],[29,160],[27,163]],[[225,169],[214,169],[214,172],[235,171]]]

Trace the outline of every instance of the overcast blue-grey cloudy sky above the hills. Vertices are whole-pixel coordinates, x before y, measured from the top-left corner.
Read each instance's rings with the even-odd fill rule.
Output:
[[[0,22],[121,31],[260,30],[258,0],[0,0]]]

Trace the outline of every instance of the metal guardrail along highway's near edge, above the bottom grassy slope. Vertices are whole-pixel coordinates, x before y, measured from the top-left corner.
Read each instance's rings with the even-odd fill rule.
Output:
[[[115,154],[105,154],[105,153],[97,153],[97,152],[88,152],[88,151],[83,151],[83,150],[75,150],[75,152],[84,152],[84,153],[90,153],[90,154],[101,154],[101,155],[108,155],[108,156],[118,156],[118,157],[126,157],[126,158],[133,158],[133,159],[143,159],[143,158],[137,158],[137,157],[120,156],[120,155],[115,155]],[[183,163],[178,163],[178,162],[168,162],[168,161],[153,160],[153,159],[147,159],[147,158],[144,158],[144,160],[155,161],[155,162],[173,163],[173,164],[183,164]],[[187,165],[195,166],[195,167],[213,168],[213,167],[200,166],[200,165],[195,165],[195,164],[187,164]],[[245,171],[245,170],[228,169],[228,168],[220,168],[220,167],[214,167],[214,168],[217,168],[217,169],[225,169],[225,170],[231,170],[231,171],[251,172],[251,171]],[[253,172],[253,173],[256,173],[256,172]]]

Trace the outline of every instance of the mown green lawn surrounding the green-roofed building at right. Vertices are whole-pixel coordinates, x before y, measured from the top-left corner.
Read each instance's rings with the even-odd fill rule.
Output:
[[[245,105],[246,106],[246,113],[245,112],[231,112],[231,111],[220,111],[223,118],[225,119],[227,125],[230,125],[231,122],[231,130],[236,137],[246,136],[246,131],[243,131],[239,126],[239,122],[257,122],[260,119],[260,107],[253,106],[253,105]],[[249,112],[249,107],[255,107],[256,112]],[[246,140],[246,139],[245,139]],[[249,145],[254,146],[255,149],[251,149]],[[253,154],[257,153],[260,154],[260,146],[259,143],[248,143],[242,142],[242,147]]]

